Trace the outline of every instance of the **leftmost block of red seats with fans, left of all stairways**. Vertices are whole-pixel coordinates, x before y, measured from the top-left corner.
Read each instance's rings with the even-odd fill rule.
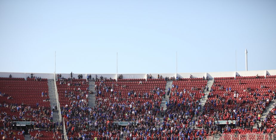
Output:
[[[28,132],[18,130],[16,122],[30,122],[30,131],[44,129],[49,132],[59,128],[54,127],[57,122],[53,120],[47,92],[47,79],[0,78],[2,139],[24,139]]]

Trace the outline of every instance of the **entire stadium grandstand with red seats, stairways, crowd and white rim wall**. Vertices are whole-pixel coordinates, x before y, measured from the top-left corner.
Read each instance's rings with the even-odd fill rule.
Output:
[[[0,73],[1,138],[276,139],[276,70]]]

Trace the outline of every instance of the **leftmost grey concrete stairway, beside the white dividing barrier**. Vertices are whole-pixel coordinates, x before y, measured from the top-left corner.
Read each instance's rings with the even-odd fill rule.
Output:
[[[55,85],[54,80],[48,80],[48,88],[49,88],[49,97],[50,97],[50,104],[51,104],[51,110],[53,110],[53,105],[57,105],[57,97],[55,96]],[[53,121],[59,122],[59,116],[58,111],[53,112]]]

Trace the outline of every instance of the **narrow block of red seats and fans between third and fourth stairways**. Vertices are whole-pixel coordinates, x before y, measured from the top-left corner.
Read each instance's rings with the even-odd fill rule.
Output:
[[[169,101],[166,101],[161,127],[161,132],[165,130],[169,135],[161,134],[162,137],[204,139],[205,131],[196,127],[202,125],[201,122],[198,123],[198,118],[201,112],[200,99],[206,84],[207,81],[201,78],[177,77],[177,80],[173,81],[172,88],[168,88]]]

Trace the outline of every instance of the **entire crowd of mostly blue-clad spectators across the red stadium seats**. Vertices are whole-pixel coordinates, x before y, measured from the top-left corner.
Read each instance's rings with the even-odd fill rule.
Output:
[[[68,99],[66,105],[61,106],[68,139],[189,140],[205,139],[206,136],[213,134],[232,133],[233,130],[235,133],[246,129],[259,133],[274,132],[269,128],[275,127],[276,105],[264,120],[260,119],[269,102],[276,101],[275,89],[267,84],[272,83],[271,81],[262,80],[261,84],[253,81],[255,85],[251,86],[248,84],[249,80],[243,79],[229,80],[232,83],[228,83],[227,80],[226,82],[214,80],[209,91],[206,84],[201,85],[202,82],[198,82],[208,80],[208,76],[198,80],[192,80],[192,75],[190,79],[166,77],[165,81],[174,81],[166,92],[165,86],[147,85],[149,81],[118,83],[102,76],[98,79],[96,75],[95,103],[94,106],[88,106],[88,96],[91,96],[89,95],[91,92],[88,92],[89,81],[92,81],[91,74],[87,75],[86,81],[74,81],[72,76],[65,79],[61,74],[58,77],[59,85],[67,85],[69,88],[60,94]],[[147,75],[147,78],[151,79],[152,75]],[[157,78],[163,77],[158,74]],[[123,75],[120,74],[118,79],[123,79]],[[255,80],[261,79],[262,77],[258,75],[255,77]],[[180,84],[183,81],[186,81],[185,84]],[[87,85],[87,88],[84,90],[81,88],[82,85]],[[142,88],[148,91],[140,91]],[[200,100],[205,97],[204,90],[207,93],[209,91],[209,94],[202,107]],[[169,99],[165,102],[166,108],[163,108],[160,104],[166,94]],[[41,95],[43,97],[45,93]],[[8,95],[0,92],[0,96]],[[41,107],[39,104],[30,107],[24,104],[6,103],[0,104],[0,107],[9,108],[10,112],[19,114],[10,116],[6,112],[1,112],[0,119],[4,123],[5,132],[10,130],[13,121],[34,121],[34,129],[52,131],[53,139],[62,139],[59,130],[63,124],[53,121],[50,107]],[[221,120],[228,121],[226,125],[220,125]],[[128,122],[128,125],[122,127],[115,122]],[[254,125],[257,125],[256,130],[253,129]],[[43,135],[38,132],[31,139],[39,137]]]

